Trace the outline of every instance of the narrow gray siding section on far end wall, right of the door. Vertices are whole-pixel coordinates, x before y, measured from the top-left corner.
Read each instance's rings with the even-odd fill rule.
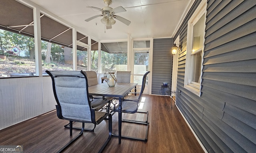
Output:
[[[172,38],[159,38],[153,41],[153,67],[151,94],[164,94],[167,88],[161,88],[163,82],[172,84]]]

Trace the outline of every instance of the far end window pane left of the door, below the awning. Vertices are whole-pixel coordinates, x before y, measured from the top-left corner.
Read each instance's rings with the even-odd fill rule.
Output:
[[[127,53],[106,53],[101,54],[101,72],[127,71]]]

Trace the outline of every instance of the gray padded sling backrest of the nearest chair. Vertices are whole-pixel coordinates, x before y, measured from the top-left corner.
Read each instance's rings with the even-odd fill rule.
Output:
[[[89,101],[88,80],[82,71],[46,71],[52,78],[52,87],[60,119],[95,122]]]

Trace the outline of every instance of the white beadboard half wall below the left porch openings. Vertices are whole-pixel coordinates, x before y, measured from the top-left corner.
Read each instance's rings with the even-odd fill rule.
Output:
[[[0,129],[54,110],[55,105],[50,77],[0,79]]]

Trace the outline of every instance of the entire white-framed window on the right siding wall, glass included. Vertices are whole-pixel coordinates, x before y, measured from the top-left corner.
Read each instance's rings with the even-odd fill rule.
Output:
[[[184,87],[200,96],[204,53],[206,1],[203,0],[188,21],[187,57]]]

